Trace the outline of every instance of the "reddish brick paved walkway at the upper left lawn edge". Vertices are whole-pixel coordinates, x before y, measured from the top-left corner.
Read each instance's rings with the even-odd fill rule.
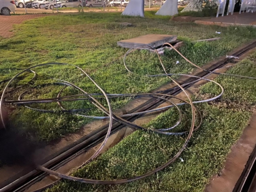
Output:
[[[45,17],[45,14],[28,14],[28,15],[12,15],[12,16],[0,16],[0,36],[9,38],[14,35],[12,30],[13,24],[21,24],[28,19],[34,19],[38,17]]]

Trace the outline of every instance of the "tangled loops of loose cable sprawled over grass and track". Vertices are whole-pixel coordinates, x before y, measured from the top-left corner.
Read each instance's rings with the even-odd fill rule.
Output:
[[[49,173],[51,175],[55,175],[55,176],[58,176],[58,177],[61,177],[61,178],[65,178],[65,179],[69,179],[69,180],[74,180],[74,181],[78,181],[78,182],[81,182],[81,183],[93,183],[93,184],[104,184],[104,185],[111,185],[111,184],[121,184],[121,183],[128,183],[128,182],[131,182],[131,181],[135,181],[135,180],[139,180],[139,179],[142,179],[142,178],[145,178],[149,175],[152,175],[164,168],[166,168],[169,164],[171,164],[173,161],[175,161],[175,159],[178,158],[178,156],[180,156],[180,154],[183,152],[183,150],[185,149],[185,147],[187,146],[190,138],[191,138],[191,135],[193,133],[194,130],[197,130],[197,128],[200,127],[201,123],[202,123],[202,116],[199,112],[199,110],[194,107],[194,103],[201,103],[201,102],[209,102],[209,101],[212,101],[212,100],[215,100],[217,99],[218,97],[220,97],[221,95],[223,95],[223,92],[224,92],[224,89],[223,87],[213,81],[213,80],[210,80],[210,79],[207,79],[206,77],[209,76],[210,74],[212,73],[216,73],[216,74],[225,74],[225,75],[230,75],[230,76],[237,76],[237,77],[240,77],[240,78],[251,78],[251,79],[256,79],[256,78],[253,78],[253,77],[247,77],[247,76],[239,76],[239,75],[234,75],[234,74],[227,74],[227,73],[217,73],[216,71],[218,71],[219,69],[223,69],[223,68],[227,68],[227,67],[230,67],[230,66],[224,66],[222,68],[219,68],[219,69],[215,69],[214,71],[208,71],[206,69],[202,69],[201,67],[193,64],[191,61],[189,61],[186,57],[184,57],[177,49],[175,49],[175,47],[173,47],[171,44],[169,43],[165,43],[164,45],[169,45],[171,46],[171,48],[173,50],[175,50],[176,52],[178,52],[178,54],[183,57],[187,62],[189,62],[190,64],[192,64],[193,66],[197,67],[198,69],[201,69],[203,71],[206,71],[208,72],[205,76],[203,77],[198,77],[198,76],[192,76],[192,75],[187,75],[187,74],[175,74],[175,73],[167,73],[166,72],[166,69],[164,67],[164,64],[162,63],[161,61],[161,58],[158,54],[158,52],[155,50],[156,54],[158,55],[159,57],[159,61],[161,63],[161,66],[164,70],[164,74],[156,74],[156,75],[147,75],[148,77],[156,77],[156,76],[167,76],[168,78],[171,79],[171,81],[173,81],[176,85],[178,85],[178,87],[175,87],[173,89],[180,89],[182,90],[187,99],[189,101],[186,101],[182,98],[179,98],[179,97],[176,97],[174,95],[167,95],[167,94],[163,94],[161,92],[156,92],[156,93],[137,93],[137,94],[107,94],[106,92],[104,92],[104,90],[88,75],[88,73],[86,73],[83,69],[81,69],[80,67],[78,66],[75,66],[75,65],[72,65],[72,64],[64,64],[64,63],[46,63],[46,64],[38,64],[38,65],[35,65],[35,66],[31,66],[27,69],[24,69],[23,71],[21,71],[20,73],[18,73],[17,75],[15,75],[11,80],[5,80],[5,81],[2,81],[0,83],[3,83],[3,82],[7,82],[7,85],[5,86],[3,92],[2,92],[2,96],[1,96],[1,100],[0,100],[0,117],[1,117],[1,121],[2,121],[2,124],[5,125],[5,121],[4,121],[4,118],[3,118],[3,103],[12,103],[12,104],[19,104],[19,105],[24,105],[26,108],[28,109],[32,109],[32,110],[36,110],[36,111],[41,111],[41,112],[55,112],[53,110],[45,110],[45,109],[36,109],[36,108],[32,108],[32,107],[28,107],[26,106],[26,104],[35,104],[35,103],[49,103],[49,102],[57,102],[57,104],[59,105],[59,107],[61,108],[61,112],[69,112],[71,114],[74,114],[74,115],[77,115],[77,116],[83,116],[83,117],[86,117],[86,118],[94,118],[94,119],[109,119],[109,127],[108,127],[108,130],[107,130],[107,134],[102,142],[102,144],[100,145],[100,147],[97,149],[97,151],[87,160],[83,163],[82,166],[84,166],[85,164],[88,164],[92,159],[94,159],[97,154],[99,154],[99,152],[102,150],[102,148],[104,147],[104,145],[106,144],[108,138],[109,138],[109,135],[110,135],[110,132],[111,132],[111,127],[112,127],[112,120],[116,120],[120,123],[123,123],[124,125],[126,126],[129,126],[129,127],[132,127],[132,128],[135,128],[135,129],[141,129],[141,130],[146,130],[146,131],[151,131],[151,132],[155,132],[155,133],[158,133],[158,134],[164,134],[164,135],[183,135],[183,134],[187,134],[187,137],[186,137],[186,140],[184,142],[184,144],[180,147],[179,151],[171,158],[169,159],[165,164],[163,164],[162,166],[159,166],[158,168],[152,170],[152,171],[149,171],[148,173],[145,173],[143,175],[140,175],[140,176],[135,176],[135,177],[132,177],[132,178],[126,178],[126,179],[120,179],[120,180],[91,180],[91,179],[85,179],[85,178],[77,178],[77,177],[73,177],[73,176],[69,176],[69,175],[64,175],[62,173],[58,173],[56,171],[52,171],[48,168],[45,168],[43,166],[40,166],[38,165],[38,169],[40,169],[41,171],[45,171],[46,173]],[[133,73],[132,71],[130,71],[128,69],[128,67],[126,66],[126,57],[127,55],[134,51],[134,50],[138,50],[138,49],[142,49],[142,48],[148,48],[148,49],[152,49],[154,50],[152,47],[148,46],[148,45],[142,45],[142,46],[138,46],[138,47],[135,47],[135,48],[132,48],[130,50],[128,50],[124,56],[124,59],[123,59],[123,63],[124,63],[124,66],[126,68],[126,70],[129,72],[129,73]],[[33,68],[36,68],[36,67],[39,67],[39,66],[45,66],[45,65],[70,65],[70,66],[74,66],[76,67],[77,69],[79,69],[80,71],[82,71],[89,79],[90,81],[96,85],[96,87],[102,92],[102,94],[95,94],[95,93],[87,93],[85,92],[83,89],[79,88],[78,86],[72,84],[72,83],[69,83],[67,81],[63,81],[63,80],[60,80],[60,79],[55,79],[57,81],[60,81],[60,82],[56,82],[56,83],[46,83],[46,84],[43,84],[43,85],[40,85],[40,86],[45,86],[45,85],[49,85],[49,84],[53,84],[53,85],[64,85],[64,88],[66,86],[70,86],[72,88],[75,88],[77,90],[80,90],[81,92],[83,92],[83,94],[80,94],[80,95],[69,95],[69,96],[63,96],[61,97],[61,93],[62,93],[62,90],[64,90],[64,88],[62,88],[57,97],[55,98],[48,98],[48,99],[38,99],[38,100],[22,100],[22,96],[28,91],[24,91],[21,93],[21,95],[19,95],[19,99],[18,100],[14,100],[14,101],[5,101],[5,94],[8,92],[7,89],[9,87],[9,85],[15,80],[17,79],[18,76],[20,76],[21,74],[29,71],[29,72],[32,72],[34,73],[34,77],[31,79],[31,81],[34,80],[34,78],[36,77],[36,73],[34,71],[32,71],[31,69]],[[232,65],[233,66],[233,65]],[[185,83],[183,85],[180,85],[177,81],[175,81],[173,78],[171,78],[172,75],[178,75],[178,76],[186,76],[186,77],[193,77],[193,78],[197,78],[197,80],[195,81],[192,81],[190,83]],[[220,89],[221,89],[221,92],[219,95],[215,96],[215,97],[212,97],[210,99],[206,99],[206,100],[200,100],[200,101],[194,101],[192,102],[192,99],[191,97],[188,95],[188,93],[186,92],[185,88],[183,88],[185,85],[189,85],[189,84],[192,84],[192,83],[195,83],[197,81],[200,81],[200,80],[205,80],[205,81],[210,81],[210,82],[213,82],[213,83],[216,83]],[[21,85],[23,86],[23,85]],[[20,88],[21,86],[19,86],[18,88]],[[38,85],[39,86],[39,85]],[[37,88],[38,86],[36,87],[33,87],[33,88]],[[72,97],[81,97],[83,96],[83,98],[72,98]],[[106,101],[107,101],[107,105],[108,105],[108,109],[106,107],[104,107],[94,96],[100,96],[100,97],[97,97],[97,98],[105,98]],[[157,109],[151,109],[151,110],[147,110],[147,111],[142,111],[142,112],[134,112],[134,113],[131,113],[131,114],[123,114],[123,115],[116,115],[114,113],[112,113],[112,109],[111,109],[111,104],[110,104],[110,101],[109,99],[111,98],[116,98],[116,97],[130,97],[130,96],[133,96],[135,98],[137,97],[153,97],[153,98],[156,98],[158,100],[163,100],[164,102],[168,102],[170,103],[168,106],[165,106],[165,107],[159,107]],[[175,98],[175,99],[178,99],[180,100],[181,102],[178,103],[178,104],[175,104],[174,102],[172,102],[171,100],[169,100],[169,98]],[[106,116],[87,116],[87,115],[81,115],[81,114],[77,114],[76,112],[77,111],[85,111],[85,110],[89,110],[89,109],[65,109],[61,102],[66,102],[66,101],[76,101],[76,100],[90,100],[90,102],[95,106],[97,107],[98,109],[100,109],[104,114],[106,114]],[[184,132],[179,132],[179,133],[174,133],[174,132],[167,132],[168,130],[171,130],[175,127],[177,127],[180,122],[181,122],[181,119],[182,119],[182,113],[179,109],[179,105],[183,105],[183,104],[189,104],[190,107],[191,107],[191,111],[192,111],[192,117],[191,117],[191,126],[190,126],[190,130],[189,131],[184,131]],[[166,110],[170,107],[176,107],[178,109],[178,113],[179,113],[179,118],[178,118],[178,121],[171,127],[169,128],[163,128],[163,129],[146,129],[146,128],[143,128],[141,126],[138,126],[130,121],[127,121],[126,119],[123,119],[124,117],[128,117],[128,116],[134,116],[134,115],[139,115],[139,114],[147,114],[147,113],[150,113],[150,112],[155,112],[155,111],[163,111],[163,110]],[[198,112],[199,114],[199,118],[200,118],[200,121],[198,123],[197,126],[195,126],[195,111]]]

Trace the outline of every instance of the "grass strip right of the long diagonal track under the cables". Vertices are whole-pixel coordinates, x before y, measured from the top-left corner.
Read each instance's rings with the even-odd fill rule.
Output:
[[[228,73],[256,77],[256,52]],[[46,192],[203,192],[213,174],[220,173],[230,147],[242,134],[256,102],[255,80],[220,75],[215,79],[224,95],[210,103],[196,104],[203,123],[195,131],[177,159],[166,169],[132,183],[91,185],[62,180]],[[206,83],[194,99],[218,95],[219,88]],[[177,131],[189,128],[190,107],[181,107],[184,117]],[[149,122],[147,127],[166,128],[177,120],[177,111],[169,109]],[[185,141],[185,136],[166,136],[135,131],[72,175],[90,179],[115,180],[141,175],[170,159]]]

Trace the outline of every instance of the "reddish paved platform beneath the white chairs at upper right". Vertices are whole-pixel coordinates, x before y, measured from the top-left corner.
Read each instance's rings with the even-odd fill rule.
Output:
[[[213,17],[211,19],[200,19],[194,21],[197,24],[219,25],[219,26],[254,26],[256,27],[256,12],[241,13],[235,12],[233,15],[223,17]]]

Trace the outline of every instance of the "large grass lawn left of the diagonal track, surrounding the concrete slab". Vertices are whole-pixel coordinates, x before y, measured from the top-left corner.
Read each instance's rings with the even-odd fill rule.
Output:
[[[168,82],[168,78],[147,78],[144,74],[162,73],[159,60],[154,53],[133,52],[127,58],[130,69],[138,75],[127,73],[121,57],[127,49],[118,47],[116,41],[145,34],[176,34],[185,45],[180,48],[188,59],[202,66],[209,61],[225,55],[230,50],[256,38],[256,29],[249,27],[203,26],[192,23],[169,21],[170,17],[159,17],[154,11],[145,12],[145,18],[121,17],[115,13],[57,14],[33,19],[16,25],[12,38],[0,40],[0,81],[13,77],[19,68],[40,63],[64,62],[83,68],[107,93],[149,92]],[[123,27],[120,22],[131,22],[133,27]],[[221,34],[216,34],[220,31]],[[221,37],[210,43],[192,43],[192,40]],[[193,67],[173,51],[161,56],[170,73],[190,73]],[[180,64],[176,65],[176,61]],[[38,76],[34,85],[55,82],[51,78],[69,81],[87,92],[100,92],[81,72],[70,66],[46,66],[35,69]],[[26,83],[33,75],[28,73],[14,82],[12,87]],[[0,85],[3,88],[5,83]],[[32,85],[31,85],[32,86]],[[32,89],[24,96],[28,98],[56,97],[61,86],[49,85]],[[26,89],[22,88],[9,96],[17,96]],[[80,93],[66,88],[62,94]],[[120,108],[129,101],[111,100],[113,109]],[[102,101],[104,103],[104,101]],[[66,109],[92,107],[87,101],[63,103]],[[41,109],[58,110],[57,103],[31,105]],[[101,114],[95,108],[88,115]],[[24,107],[12,107],[11,127],[26,133],[31,140],[50,141],[66,133],[78,130],[91,121],[71,114],[49,114],[32,111]]]

